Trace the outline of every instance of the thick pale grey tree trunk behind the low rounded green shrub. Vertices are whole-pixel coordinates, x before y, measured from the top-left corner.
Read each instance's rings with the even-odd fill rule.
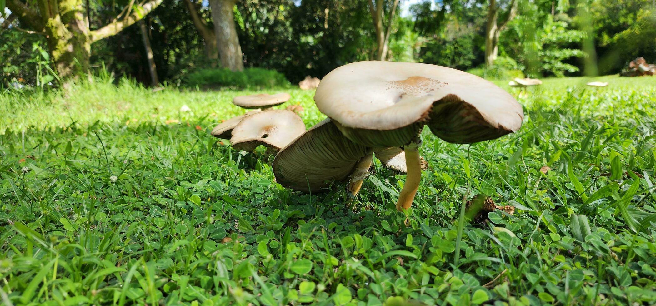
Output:
[[[243,59],[232,12],[235,2],[236,0],[209,0],[221,66],[232,71],[241,71],[244,69]]]

